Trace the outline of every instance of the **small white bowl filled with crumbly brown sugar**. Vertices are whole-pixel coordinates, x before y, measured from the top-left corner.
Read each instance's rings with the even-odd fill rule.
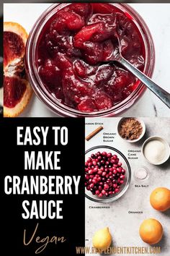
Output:
[[[117,125],[118,135],[127,142],[139,141],[146,132],[146,124],[135,117],[123,117]]]

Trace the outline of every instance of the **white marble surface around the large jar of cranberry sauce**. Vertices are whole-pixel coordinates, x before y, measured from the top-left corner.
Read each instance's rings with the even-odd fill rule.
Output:
[[[130,4],[146,21],[151,30],[156,48],[156,66],[153,80],[170,92],[170,4]],[[30,32],[40,14],[50,4],[4,4],[4,21],[19,22]],[[37,97],[21,116],[56,117]],[[149,90],[122,116],[170,116],[169,109]]]

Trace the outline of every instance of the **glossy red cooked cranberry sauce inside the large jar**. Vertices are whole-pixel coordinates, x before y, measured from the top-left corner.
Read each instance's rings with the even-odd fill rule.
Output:
[[[116,54],[143,71],[145,48],[138,28],[111,4],[69,4],[43,27],[37,66],[45,88],[79,111],[112,108],[130,95],[136,78],[120,64],[101,64]]]

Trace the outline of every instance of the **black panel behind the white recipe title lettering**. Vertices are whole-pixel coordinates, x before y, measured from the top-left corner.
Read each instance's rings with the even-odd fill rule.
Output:
[[[68,127],[68,145],[55,146],[53,132],[48,134],[47,146],[17,146],[17,126],[66,126]],[[1,126],[1,251],[4,255],[33,256],[37,244],[23,245],[24,229],[30,239],[37,222],[37,236],[65,236],[67,242],[48,244],[40,252],[42,256],[76,255],[76,246],[85,242],[84,208],[84,119],[2,119]],[[61,171],[24,171],[24,150],[61,150]],[[6,195],[4,177],[6,175],[81,175],[79,195]],[[63,219],[24,220],[22,219],[23,200],[63,200]],[[40,244],[38,244],[40,247]]]

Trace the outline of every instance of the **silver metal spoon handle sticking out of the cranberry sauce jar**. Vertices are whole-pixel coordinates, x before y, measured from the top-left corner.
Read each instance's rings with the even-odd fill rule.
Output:
[[[119,62],[122,64],[122,66],[126,67],[131,73],[133,73],[135,77],[143,82],[147,88],[149,88],[158,98],[160,98],[161,101],[166,104],[166,106],[170,108],[170,94],[166,92],[166,90],[156,85],[156,83],[147,77],[146,74],[143,74],[143,72],[140,72],[139,69],[133,67],[133,64],[130,64],[130,62],[123,57],[120,57]]]

